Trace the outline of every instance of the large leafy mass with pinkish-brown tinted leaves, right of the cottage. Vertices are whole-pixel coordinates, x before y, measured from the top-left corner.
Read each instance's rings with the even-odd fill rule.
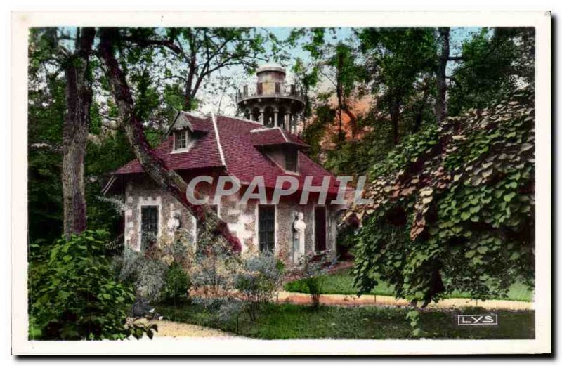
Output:
[[[377,275],[396,296],[424,305],[455,290],[502,296],[520,277],[531,284],[532,93],[429,127],[373,166],[373,203],[351,210],[363,223],[355,247],[361,292]]]

